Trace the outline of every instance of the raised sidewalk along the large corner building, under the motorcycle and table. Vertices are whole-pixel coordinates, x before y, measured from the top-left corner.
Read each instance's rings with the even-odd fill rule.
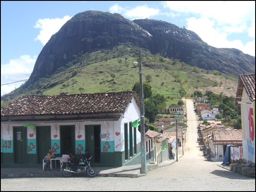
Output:
[[[167,160],[159,164],[147,164],[147,172],[157,169],[162,166],[171,165],[175,160]],[[94,167],[97,176],[102,177],[140,177],[145,174],[140,173],[141,165],[128,165],[122,167]],[[73,175],[74,176],[87,176],[85,172]],[[2,178],[24,178],[24,177],[64,177],[60,168],[53,168],[52,171],[43,171],[42,168],[1,168]]]

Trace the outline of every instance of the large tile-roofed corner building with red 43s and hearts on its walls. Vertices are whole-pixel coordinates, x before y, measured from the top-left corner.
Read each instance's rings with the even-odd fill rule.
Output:
[[[1,108],[1,167],[42,166],[49,149],[76,159],[88,149],[92,164],[109,167],[139,164],[141,134],[131,126],[139,117],[134,91],[20,96]]]

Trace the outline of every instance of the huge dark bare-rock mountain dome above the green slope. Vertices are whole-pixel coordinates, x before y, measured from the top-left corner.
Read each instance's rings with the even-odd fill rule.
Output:
[[[76,14],[54,34],[40,52],[28,87],[36,77],[54,73],[79,55],[108,49],[120,43],[159,53],[206,70],[225,74],[255,73],[255,57],[238,49],[215,48],[185,28],[154,19],[125,19],[120,14],[85,11]]]

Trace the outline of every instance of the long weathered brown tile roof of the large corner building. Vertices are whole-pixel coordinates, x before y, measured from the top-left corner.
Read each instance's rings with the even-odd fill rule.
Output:
[[[139,106],[134,91],[73,94],[26,95],[1,108],[1,117],[31,115],[86,115],[123,113],[132,98]]]

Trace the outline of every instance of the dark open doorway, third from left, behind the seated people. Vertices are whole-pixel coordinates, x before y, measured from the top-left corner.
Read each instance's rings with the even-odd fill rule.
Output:
[[[73,153],[75,154],[75,126],[60,126],[61,134],[61,155]]]

